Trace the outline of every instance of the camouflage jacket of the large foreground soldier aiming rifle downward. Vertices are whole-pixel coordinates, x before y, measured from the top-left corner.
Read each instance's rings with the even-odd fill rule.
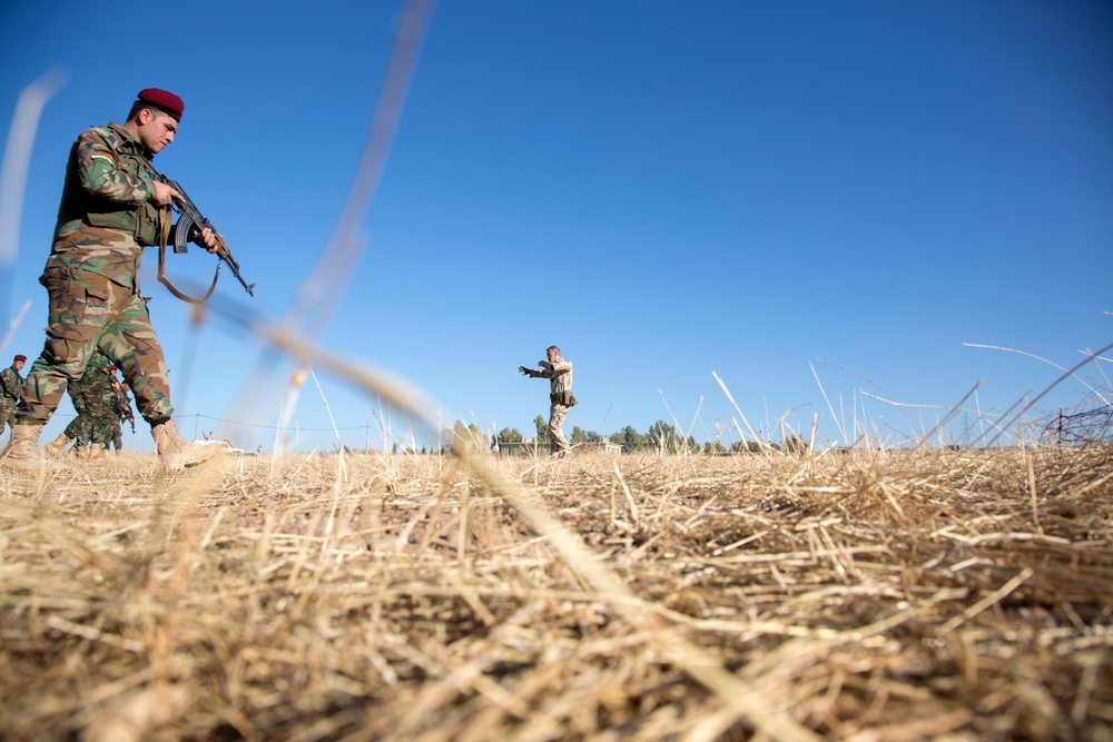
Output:
[[[142,248],[158,240],[157,177],[146,148],[118,123],[83,131],[66,165],[47,270],[95,273],[138,290]]]

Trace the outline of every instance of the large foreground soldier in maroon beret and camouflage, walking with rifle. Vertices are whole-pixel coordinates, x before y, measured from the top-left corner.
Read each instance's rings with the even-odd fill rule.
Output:
[[[174,141],[183,108],[174,93],[147,88],[124,126],[88,129],[73,144],[53,248],[39,278],[49,294],[47,339],[31,364],[0,465],[50,466],[38,449],[39,434],[95,348],[124,372],[167,468],[193,466],[214,455],[216,446],[187,443],[170,419],[162,347],[139,295],[144,248],[160,243],[160,225],[169,219],[166,207],[181,198],[161,181],[151,158]],[[198,240],[216,250],[211,229],[204,229]]]

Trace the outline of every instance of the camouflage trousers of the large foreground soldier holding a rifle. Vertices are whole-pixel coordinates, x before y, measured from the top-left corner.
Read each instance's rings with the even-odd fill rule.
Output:
[[[170,385],[147,303],[98,274],[49,269],[39,279],[50,296],[47,342],[27,375],[17,418],[45,424],[70,382],[81,378],[95,348],[116,362],[147,422],[169,417]]]

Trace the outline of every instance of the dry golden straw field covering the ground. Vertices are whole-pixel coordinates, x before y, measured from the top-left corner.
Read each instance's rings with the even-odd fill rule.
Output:
[[[1111,454],[0,474],[0,734],[1113,740]]]

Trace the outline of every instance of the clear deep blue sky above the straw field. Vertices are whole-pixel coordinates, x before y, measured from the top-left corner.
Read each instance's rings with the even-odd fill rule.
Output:
[[[258,283],[248,299],[225,274],[225,303],[282,317],[328,241],[402,3],[152,8],[0,6],[0,140],[26,85],[68,75],[0,284],[4,327],[33,303],[6,356],[41,349],[37,278],[71,142],[144,87],[186,101],[156,167]],[[700,442],[717,425],[737,439],[713,370],[756,428],[785,416],[807,432],[818,415],[839,441],[826,390],[846,423],[899,443],[937,412],[861,392],[948,407],[981,380],[988,417],[1060,372],[965,343],[1073,366],[1113,342],[1111,132],[1107,2],[442,2],[361,221],[366,251],[317,342],[485,431],[532,434],[545,384],[515,368],[558,344],[581,399],[569,431],[644,432],[670,421],[663,395],[682,428],[703,398]],[[260,346],[220,321],[189,330],[155,258],[145,293],[193,433],[195,414],[232,414]],[[204,280],[213,258],[170,260]],[[345,442],[362,446],[371,421],[376,443],[374,400],[319,380]],[[1067,382],[1033,415],[1086,395]],[[277,406],[236,416],[273,425]],[[328,426],[312,384],[296,416],[303,449],[332,447],[307,429]]]

